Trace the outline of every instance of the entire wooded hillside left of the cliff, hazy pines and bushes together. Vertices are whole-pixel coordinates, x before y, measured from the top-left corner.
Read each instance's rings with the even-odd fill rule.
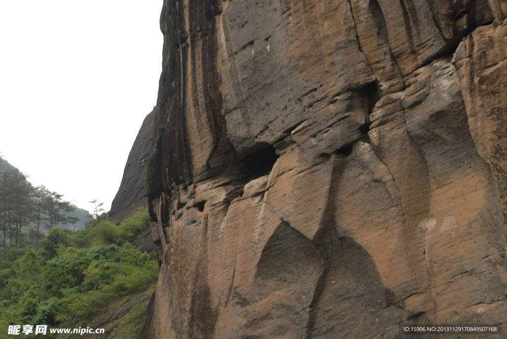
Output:
[[[107,337],[132,336],[142,325],[158,263],[132,244],[150,227],[148,208],[116,224],[90,203],[93,215],[34,187],[0,157],[0,338],[10,336],[9,325],[70,328],[112,314]]]

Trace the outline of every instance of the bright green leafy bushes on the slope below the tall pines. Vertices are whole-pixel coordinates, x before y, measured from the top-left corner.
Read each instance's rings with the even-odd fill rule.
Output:
[[[0,261],[2,331],[13,324],[86,325],[115,300],[128,302],[132,293],[148,290],[158,279],[158,263],[132,243],[149,225],[146,207],[119,225],[102,213],[78,231],[51,228],[40,240],[39,249],[33,245],[7,246]],[[146,303],[133,306],[132,313],[121,322],[130,325],[114,332],[136,330],[143,321]]]

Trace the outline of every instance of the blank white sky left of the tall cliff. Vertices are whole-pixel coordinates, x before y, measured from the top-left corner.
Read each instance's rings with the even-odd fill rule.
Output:
[[[0,1],[0,155],[110,209],[157,101],[162,0]]]

